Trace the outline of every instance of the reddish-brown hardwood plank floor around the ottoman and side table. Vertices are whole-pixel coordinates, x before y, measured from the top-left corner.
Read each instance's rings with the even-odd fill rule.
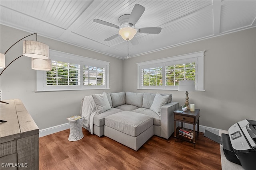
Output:
[[[221,170],[220,145],[199,133],[192,143],[152,136],[132,150],[108,137],[68,141],[69,129],[39,138],[40,170]]]

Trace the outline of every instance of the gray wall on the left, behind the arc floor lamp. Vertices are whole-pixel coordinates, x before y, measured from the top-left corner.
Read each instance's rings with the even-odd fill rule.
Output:
[[[1,53],[5,53],[19,39],[31,34],[4,25],[0,25],[0,29]],[[32,35],[26,39],[36,40],[35,37],[36,35]],[[84,96],[103,91],[121,92],[123,90],[123,60],[45,37],[38,36],[38,41],[46,43],[53,50],[110,62],[109,90],[59,92],[35,92],[36,70],[31,69],[31,59],[29,57],[23,56],[12,63],[1,75],[2,100],[21,99],[39,129],[68,123],[67,117],[80,114],[80,102]],[[10,63],[20,55],[22,55],[22,41],[6,53],[6,63]]]

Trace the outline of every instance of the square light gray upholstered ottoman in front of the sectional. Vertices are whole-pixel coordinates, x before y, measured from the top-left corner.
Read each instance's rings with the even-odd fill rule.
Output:
[[[105,117],[104,135],[138,150],[154,135],[153,118],[132,111],[121,111]]]

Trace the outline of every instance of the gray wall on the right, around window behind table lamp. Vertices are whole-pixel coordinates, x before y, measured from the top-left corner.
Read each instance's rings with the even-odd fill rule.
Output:
[[[204,51],[204,90],[189,92],[200,110],[200,125],[228,130],[243,119],[256,120],[256,30],[238,31],[124,60],[124,91],[171,93],[184,104],[184,92],[137,90],[137,63]],[[152,42],[153,43],[153,42]]]

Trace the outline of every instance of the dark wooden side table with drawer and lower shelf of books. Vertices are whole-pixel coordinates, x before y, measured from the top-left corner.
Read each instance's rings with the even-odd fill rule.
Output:
[[[195,109],[195,111],[190,111],[190,110],[182,111],[182,113],[180,113],[180,111],[182,111],[182,108],[179,108],[173,112],[174,113],[174,137],[176,139],[182,139],[184,141],[193,143],[194,148],[195,148],[196,147],[196,138],[199,135],[199,117],[200,117],[199,112],[200,112],[200,109]],[[176,121],[181,122],[181,128],[183,127],[183,123],[190,123],[193,125],[193,133],[194,133],[193,139],[190,140],[190,139],[187,139],[186,137],[182,137],[181,135],[179,135],[180,127],[178,127],[176,129]],[[197,135],[196,135],[196,124],[197,124]]]

